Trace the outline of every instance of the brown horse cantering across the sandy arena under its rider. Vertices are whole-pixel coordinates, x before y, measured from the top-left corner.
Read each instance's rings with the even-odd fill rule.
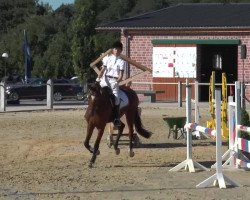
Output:
[[[133,157],[134,152],[132,139],[134,133],[134,125],[136,131],[145,138],[149,138],[152,133],[143,128],[138,112],[139,99],[135,91],[126,86],[121,87],[121,90],[128,97],[128,105],[121,108],[120,116],[126,116],[129,130],[129,154],[130,157]],[[97,155],[100,153],[99,144],[106,124],[113,121],[113,101],[111,99],[111,96],[112,95],[110,89],[108,87],[101,88],[99,83],[94,83],[89,87],[89,106],[85,113],[85,119],[88,125],[87,135],[84,141],[84,146],[93,154],[92,158],[90,159],[89,167],[93,166]],[[118,142],[122,135],[124,127],[124,123],[121,123],[121,126],[118,127],[118,135],[114,144],[114,149],[117,155],[120,153]],[[98,135],[93,148],[89,145],[89,141],[95,128],[98,130]]]

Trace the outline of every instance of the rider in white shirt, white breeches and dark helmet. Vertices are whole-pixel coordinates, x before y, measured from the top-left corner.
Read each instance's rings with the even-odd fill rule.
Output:
[[[100,82],[101,87],[108,86],[109,88],[111,88],[115,96],[115,126],[121,125],[119,116],[119,82],[122,81],[125,68],[125,61],[120,57],[122,49],[123,45],[120,41],[117,41],[112,45],[112,53],[103,58],[103,65],[101,67],[101,71],[98,77],[96,78],[96,81]]]

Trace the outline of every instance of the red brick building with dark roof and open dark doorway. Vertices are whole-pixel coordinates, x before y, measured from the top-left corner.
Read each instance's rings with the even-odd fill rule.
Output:
[[[227,82],[250,81],[250,4],[180,4],[97,27],[119,31],[128,57],[152,68],[134,82],[216,83],[222,72]],[[127,76],[140,70],[127,68]],[[133,84],[136,89],[164,90],[157,100],[177,100],[176,85]],[[208,86],[200,86],[201,101],[208,100]],[[250,90],[246,89],[246,97]]]

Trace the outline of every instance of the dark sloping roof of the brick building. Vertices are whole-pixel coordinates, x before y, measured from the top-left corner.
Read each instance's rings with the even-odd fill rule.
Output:
[[[117,20],[97,30],[250,28],[250,3],[179,4]]]

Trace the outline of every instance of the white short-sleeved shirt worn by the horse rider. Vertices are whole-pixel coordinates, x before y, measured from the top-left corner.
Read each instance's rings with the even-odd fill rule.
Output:
[[[106,76],[117,77],[119,76],[119,71],[124,70],[125,62],[120,56],[114,56],[113,54],[105,56],[102,60],[103,65],[106,66]]]

